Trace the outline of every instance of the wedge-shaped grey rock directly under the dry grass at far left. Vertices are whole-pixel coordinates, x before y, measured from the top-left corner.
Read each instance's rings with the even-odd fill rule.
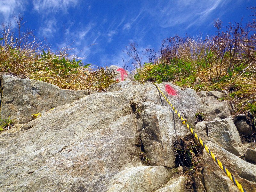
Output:
[[[2,75],[1,87],[1,118],[6,119],[10,116],[16,123],[29,122],[32,120],[31,114],[44,113],[90,93],[89,90],[63,90],[42,81],[8,75]]]

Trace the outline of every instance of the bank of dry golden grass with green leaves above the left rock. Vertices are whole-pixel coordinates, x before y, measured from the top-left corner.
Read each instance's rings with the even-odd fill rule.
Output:
[[[84,66],[81,60],[68,55],[68,48],[53,53],[34,39],[17,45],[19,40],[8,29],[0,41],[0,75],[11,74],[20,78],[44,81],[62,89],[91,89],[105,91],[116,82],[113,73],[96,66]],[[23,37],[25,38],[25,37]],[[43,49],[48,49],[46,54]]]

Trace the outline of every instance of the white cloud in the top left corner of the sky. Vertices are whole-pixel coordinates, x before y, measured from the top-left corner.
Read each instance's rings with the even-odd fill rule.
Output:
[[[18,15],[25,11],[27,0],[2,0],[0,1],[0,22],[13,23],[13,12]]]

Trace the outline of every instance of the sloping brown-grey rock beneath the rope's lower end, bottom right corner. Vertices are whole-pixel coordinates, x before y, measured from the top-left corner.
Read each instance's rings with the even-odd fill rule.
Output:
[[[207,141],[206,145],[246,191],[255,191],[256,165],[245,162],[211,141]],[[240,191],[205,150],[203,157],[204,184],[207,192]]]

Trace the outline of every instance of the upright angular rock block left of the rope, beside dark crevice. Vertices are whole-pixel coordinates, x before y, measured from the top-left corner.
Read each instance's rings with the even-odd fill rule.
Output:
[[[187,130],[181,127],[179,119],[173,116],[170,109],[162,105],[148,101],[142,103],[142,108],[141,142],[145,154],[153,165],[174,167],[172,142],[178,135],[186,135]]]

